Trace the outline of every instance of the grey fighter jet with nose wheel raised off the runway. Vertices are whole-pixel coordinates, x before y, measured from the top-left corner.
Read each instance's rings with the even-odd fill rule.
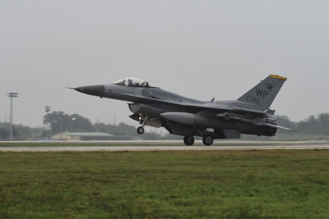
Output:
[[[270,75],[237,100],[200,101],[183,97],[137,78],[124,78],[112,84],[81,86],[75,89],[100,98],[123,100],[139,122],[138,134],[144,126],[165,127],[170,134],[184,136],[193,145],[194,136],[203,137],[205,145],[214,139],[236,139],[241,134],[275,136],[279,126],[270,105],[287,78]]]

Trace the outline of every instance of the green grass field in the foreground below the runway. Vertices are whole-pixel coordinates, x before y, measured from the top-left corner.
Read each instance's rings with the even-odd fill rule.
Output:
[[[0,218],[329,218],[329,151],[0,152]]]

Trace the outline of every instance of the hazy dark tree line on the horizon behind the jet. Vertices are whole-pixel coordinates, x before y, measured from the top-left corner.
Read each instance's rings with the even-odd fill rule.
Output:
[[[318,116],[309,116],[307,119],[299,122],[290,121],[287,116],[278,116],[278,125],[297,130],[290,132],[278,129],[276,139],[329,139],[329,113],[321,113]],[[136,126],[128,125],[123,122],[118,125],[105,124],[103,122],[92,123],[88,118],[78,114],[68,115],[64,112],[51,112],[43,117],[43,127],[29,127],[25,125],[13,125],[14,140],[35,140],[39,138],[48,138],[52,134],[60,132],[105,132],[120,136],[133,136],[144,140],[161,139],[182,139],[181,136],[160,135],[154,132],[145,132],[138,135]],[[0,140],[9,139],[8,122],[0,122]],[[46,128],[47,127],[47,128]],[[47,136],[48,135],[48,136]],[[257,137],[251,135],[242,135],[243,139],[269,139],[269,137]]]

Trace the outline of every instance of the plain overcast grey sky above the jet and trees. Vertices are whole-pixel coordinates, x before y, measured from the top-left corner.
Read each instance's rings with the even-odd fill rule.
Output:
[[[138,123],[126,102],[66,89],[148,80],[199,100],[237,99],[287,77],[271,105],[299,121],[329,112],[329,1],[0,1],[0,121],[42,125],[45,106]]]

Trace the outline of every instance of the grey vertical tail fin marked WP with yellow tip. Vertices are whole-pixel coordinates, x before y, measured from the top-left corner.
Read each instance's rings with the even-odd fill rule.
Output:
[[[278,75],[270,75],[237,100],[269,108],[286,80]]]

